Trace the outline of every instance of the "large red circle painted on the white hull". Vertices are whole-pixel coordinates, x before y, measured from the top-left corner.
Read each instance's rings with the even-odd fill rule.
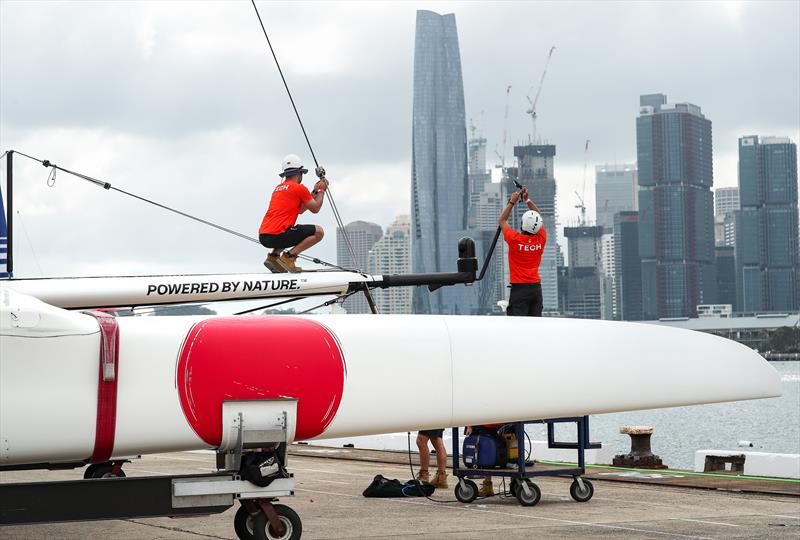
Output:
[[[321,434],[339,408],[346,370],[328,328],[274,315],[196,324],[183,344],[176,375],[186,419],[201,439],[218,446],[223,401],[296,398],[295,439]]]

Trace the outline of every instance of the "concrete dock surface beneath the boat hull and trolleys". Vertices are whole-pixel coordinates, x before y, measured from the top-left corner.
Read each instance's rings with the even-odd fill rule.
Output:
[[[213,466],[213,454],[186,452],[145,456],[126,464],[125,471],[128,476],[191,474],[209,472]],[[570,498],[569,480],[541,478],[536,480],[542,490],[541,502],[524,508],[516,499],[503,496],[470,505],[424,498],[364,498],[361,492],[377,474],[400,480],[410,477],[404,454],[295,446],[289,468],[297,480],[296,496],[281,502],[300,514],[303,538],[309,540],[800,537],[797,484],[779,486],[774,492],[752,486],[746,491],[737,487],[736,480],[715,485],[705,479],[701,481],[705,485],[686,487],[692,485],[686,478],[670,485],[648,475],[637,478],[602,471],[588,475],[595,495],[587,503]],[[0,482],[81,477],[82,471],[18,471],[0,473]],[[452,478],[450,483],[452,487]],[[433,498],[455,500],[452,489],[438,490]],[[0,539],[235,539],[233,514],[237,507],[200,518],[0,527]]]

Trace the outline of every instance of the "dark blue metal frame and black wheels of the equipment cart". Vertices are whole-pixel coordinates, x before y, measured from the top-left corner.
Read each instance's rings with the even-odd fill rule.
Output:
[[[558,442],[555,440],[555,424],[575,423],[577,427],[576,442]],[[538,469],[534,463],[526,458],[527,437],[525,426],[528,424],[547,425],[548,448],[575,449],[578,451],[578,466],[575,468]],[[586,502],[594,495],[594,486],[589,480],[581,478],[585,474],[585,451],[589,448],[600,448],[600,443],[589,440],[589,417],[578,416],[569,418],[550,418],[546,420],[529,420],[517,422],[514,433],[517,437],[516,467],[511,468],[467,468],[461,463],[461,444],[459,428],[453,428],[453,476],[458,478],[455,487],[456,499],[462,503],[471,503],[478,497],[478,486],[470,478],[485,476],[501,476],[511,479],[511,493],[522,506],[534,506],[542,497],[539,486],[531,478],[535,476],[562,476],[572,477],[569,494],[578,502]],[[529,451],[529,449],[528,449]]]

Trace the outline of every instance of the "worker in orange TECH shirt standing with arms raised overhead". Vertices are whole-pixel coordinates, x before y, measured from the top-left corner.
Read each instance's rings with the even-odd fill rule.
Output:
[[[517,232],[508,224],[508,216],[520,197],[528,205],[528,211],[522,215],[521,230]],[[539,264],[547,243],[547,231],[539,209],[528,197],[528,188],[511,195],[511,200],[500,214],[499,223],[508,244],[511,278],[511,296],[506,315],[541,317],[543,302]]]

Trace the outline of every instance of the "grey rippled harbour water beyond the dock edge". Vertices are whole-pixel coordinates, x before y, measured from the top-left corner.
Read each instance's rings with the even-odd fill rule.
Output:
[[[612,454],[623,454],[630,449],[630,438],[619,433],[620,426],[653,426],[653,452],[665,465],[678,469],[693,468],[696,450],[735,450],[740,441],[753,444],[747,450],[800,453],[800,362],[771,362],[770,365],[781,376],[783,395],[779,398],[593,415],[590,419],[592,440],[601,441]],[[690,376],[687,373],[687,377]],[[556,432],[559,440],[574,440],[574,425],[558,427],[564,428],[563,432],[560,429]],[[544,426],[530,425],[528,434],[535,440],[547,439]],[[449,449],[448,437],[445,439]],[[408,448],[405,433],[330,441],[336,446],[344,443],[379,450]],[[320,441],[320,444],[326,443]],[[416,449],[413,437],[411,446]]]

